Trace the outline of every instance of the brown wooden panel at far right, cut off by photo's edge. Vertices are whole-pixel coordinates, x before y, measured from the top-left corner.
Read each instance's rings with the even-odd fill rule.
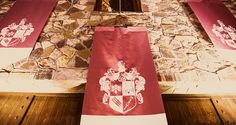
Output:
[[[212,101],[225,125],[236,124],[236,97],[213,97]]]

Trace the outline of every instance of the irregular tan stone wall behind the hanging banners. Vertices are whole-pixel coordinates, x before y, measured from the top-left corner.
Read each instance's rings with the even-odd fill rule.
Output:
[[[29,58],[0,71],[0,78],[86,82],[94,26],[145,26],[159,81],[236,80],[236,62],[225,60],[186,3],[142,0],[143,13],[94,12],[95,0],[59,0]],[[0,19],[14,1],[3,0]],[[236,16],[236,2],[224,0]],[[119,15],[119,16],[117,16]],[[3,58],[3,57],[2,57]]]

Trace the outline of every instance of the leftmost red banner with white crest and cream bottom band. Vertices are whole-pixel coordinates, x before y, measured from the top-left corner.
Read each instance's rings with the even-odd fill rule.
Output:
[[[0,21],[0,68],[29,56],[56,2],[15,2]]]

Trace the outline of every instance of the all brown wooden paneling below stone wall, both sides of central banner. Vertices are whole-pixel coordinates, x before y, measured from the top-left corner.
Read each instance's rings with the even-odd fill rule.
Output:
[[[236,125],[236,96],[162,97],[169,125]],[[79,125],[82,102],[83,94],[0,93],[0,125]]]

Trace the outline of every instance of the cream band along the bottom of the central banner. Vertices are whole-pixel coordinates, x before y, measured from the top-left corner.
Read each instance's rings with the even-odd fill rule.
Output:
[[[81,115],[80,125],[168,125],[166,113],[132,116]]]

